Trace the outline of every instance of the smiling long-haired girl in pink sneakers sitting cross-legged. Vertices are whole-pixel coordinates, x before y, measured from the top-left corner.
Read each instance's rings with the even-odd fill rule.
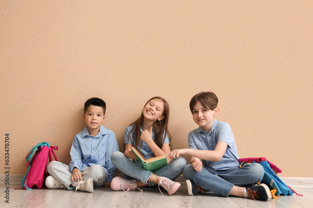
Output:
[[[169,195],[172,195],[179,186],[174,182],[186,166],[183,157],[172,159],[167,157],[167,165],[155,172],[145,170],[140,163],[133,161],[136,156],[131,152],[135,147],[145,159],[150,157],[165,156],[170,150],[170,133],[167,130],[169,120],[169,105],[162,97],[151,98],[144,106],[141,116],[130,126],[126,127],[124,154],[113,152],[111,161],[124,175],[113,178],[111,188],[115,191],[133,191],[143,186],[159,184]],[[161,192],[162,193],[162,192]]]

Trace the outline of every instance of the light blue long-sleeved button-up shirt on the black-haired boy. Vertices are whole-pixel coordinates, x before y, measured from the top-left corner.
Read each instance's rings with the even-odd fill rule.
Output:
[[[88,128],[76,134],[71,148],[72,161],[69,163],[70,171],[77,167],[79,170],[92,164],[102,165],[107,175],[106,180],[112,181],[115,166],[111,162],[111,154],[120,151],[113,131],[100,126],[99,133],[90,136]]]

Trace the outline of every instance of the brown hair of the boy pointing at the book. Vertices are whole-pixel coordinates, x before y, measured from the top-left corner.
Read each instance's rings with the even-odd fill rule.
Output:
[[[218,104],[218,98],[215,93],[211,91],[207,92],[200,92],[192,97],[189,103],[189,108],[192,113],[193,107],[196,105],[197,102],[200,102],[202,106],[209,110],[214,110]]]

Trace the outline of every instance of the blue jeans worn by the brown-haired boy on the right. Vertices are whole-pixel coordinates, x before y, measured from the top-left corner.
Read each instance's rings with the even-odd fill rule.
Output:
[[[191,164],[188,164],[183,173],[185,179],[194,184],[228,197],[234,185],[243,187],[261,181],[264,168],[259,163],[248,163],[244,167],[229,170],[207,170],[202,167],[201,172],[197,172]]]

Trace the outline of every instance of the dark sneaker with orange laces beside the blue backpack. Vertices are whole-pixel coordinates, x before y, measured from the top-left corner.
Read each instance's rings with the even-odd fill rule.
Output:
[[[259,199],[266,201],[272,198],[269,187],[264,183],[260,185],[245,186],[244,188],[247,190],[249,199]]]

